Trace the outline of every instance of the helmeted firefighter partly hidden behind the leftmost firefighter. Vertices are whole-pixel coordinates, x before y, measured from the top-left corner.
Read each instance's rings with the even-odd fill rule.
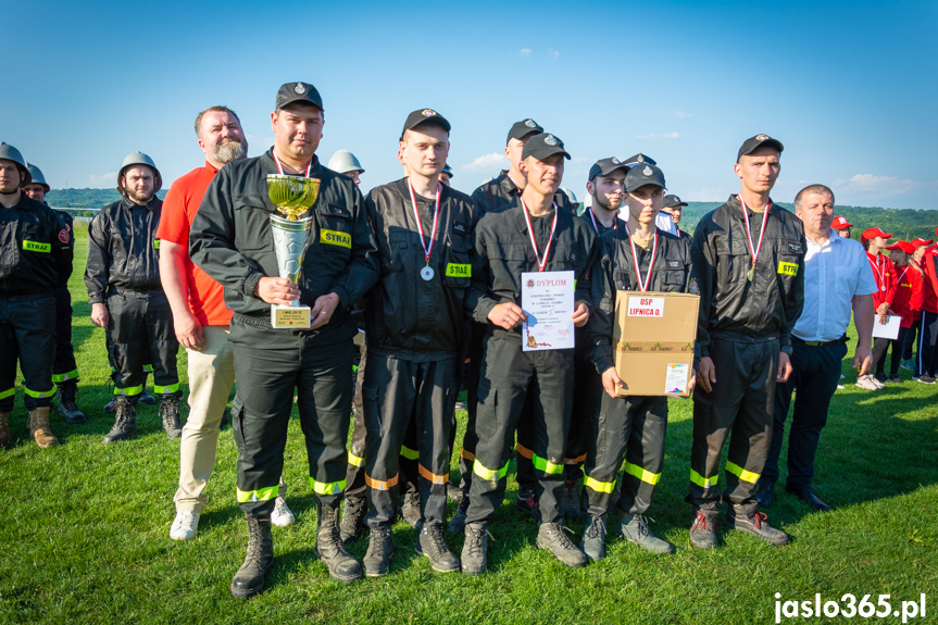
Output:
[[[46,202],[46,193],[51,187],[46,182],[42,171],[28,164],[33,178],[23,186],[23,192],[36,200]],[[72,215],[65,211],[55,211],[65,229],[68,232],[67,250],[75,253],[75,233],[72,230]],[[72,347],[72,293],[68,292],[68,278],[72,277],[72,263],[64,264],[52,295],[55,297],[55,360],[52,364],[52,382],[59,389],[59,416],[66,423],[85,423],[85,413],[78,410],[78,365],[75,362],[75,348]]]

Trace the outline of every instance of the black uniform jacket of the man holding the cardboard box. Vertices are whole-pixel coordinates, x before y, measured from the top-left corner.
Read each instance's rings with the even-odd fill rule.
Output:
[[[656,232],[658,251],[653,264],[651,248],[645,251],[636,246],[642,279],[649,279],[648,268],[651,266],[648,290],[667,293],[695,292],[697,283],[690,259],[690,241],[661,229]],[[616,291],[640,291],[641,287],[635,272],[628,230],[623,225],[603,233],[599,246],[600,255],[592,271],[592,301],[596,308],[586,329],[590,343],[589,360],[599,373],[603,373],[614,364],[612,327],[615,323]]]

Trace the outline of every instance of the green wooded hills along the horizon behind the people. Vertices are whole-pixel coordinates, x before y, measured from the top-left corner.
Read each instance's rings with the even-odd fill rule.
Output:
[[[160,198],[166,195],[163,189],[157,193]],[[52,189],[46,197],[49,204],[72,209],[70,212],[77,217],[93,216],[98,209],[121,199],[117,189]],[[697,222],[706,213],[718,207],[721,202],[688,202],[684,210],[680,229],[693,234]],[[789,211],[795,211],[793,204],[780,203]],[[938,226],[938,211],[915,211],[912,209],[881,209],[878,207],[837,207],[837,215],[847,217],[853,224],[852,235],[860,239],[860,234],[866,228],[880,227],[891,233],[893,239],[905,241],[914,238],[934,239]]]

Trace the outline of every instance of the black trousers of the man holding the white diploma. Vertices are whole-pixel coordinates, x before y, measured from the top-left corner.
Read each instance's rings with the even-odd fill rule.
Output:
[[[573,409],[573,350],[526,352],[520,337],[495,333],[490,329],[485,339],[476,415],[478,445],[466,523],[488,523],[504,499],[514,432],[528,399],[538,508],[542,522],[558,523]],[[518,443],[523,446],[521,440]]]

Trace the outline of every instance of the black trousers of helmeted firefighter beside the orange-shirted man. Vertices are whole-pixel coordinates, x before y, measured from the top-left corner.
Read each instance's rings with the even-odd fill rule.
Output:
[[[116,371],[114,395],[136,403],[143,392],[145,365],[153,358],[153,392],[172,397],[179,390],[176,354],[179,341],[173,329],[173,312],[163,291],[112,290],[108,295],[108,336]]]

